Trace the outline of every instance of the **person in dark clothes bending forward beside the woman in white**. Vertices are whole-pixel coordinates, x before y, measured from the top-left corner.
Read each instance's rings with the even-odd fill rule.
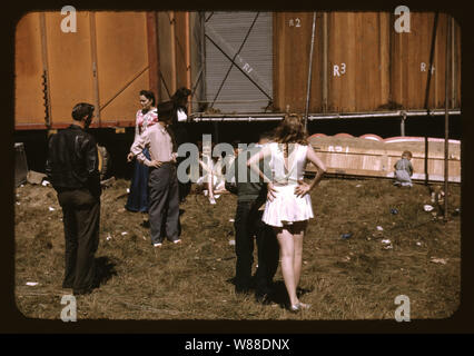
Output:
[[[258,145],[250,146],[241,151],[230,167],[230,177],[235,177],[235,184],[226,182],[226,189],[237,195],[237,211],[235,218],[236,230],[236,277],[235,290],[237,294],[246,294],[253,287],[251,265],[254,263],[254,237],[257,243],[258,267],[255,274],[256,299],[260,303],[270,301],[271,280],[278,268],[279,247],[271,227],[261,221],[263,205],[267,198],[265,182],[253,181],[250,169],[247,168],[247,159],[257,154],[264,144],[271,138],[270,132],[260,135]],[[260,170],[267,176],[269,167],[260,161]],[[239,175],[239,169],[245,169],[246,175]],[[244,176],[246,176],[244,178]]]

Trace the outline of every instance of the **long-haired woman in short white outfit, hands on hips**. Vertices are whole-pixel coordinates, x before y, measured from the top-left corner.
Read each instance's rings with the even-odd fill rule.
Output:
[[[280,246],[282,271],[288,291],[290,310],[309,308],[299,301],[296,288],[302,271],[303,238],[308,219],[314,217],[309,191],[320,181],[326,167],[308,145],[302,118],[288,115],[275,131],[275,140],[247,165],[268,182],[268,196],[263,220],[274,227]],[[258,168],[258,161],[269,159],[271,180]],[[307,184],[304,172],[307,161],[317,169],[315,179]]]

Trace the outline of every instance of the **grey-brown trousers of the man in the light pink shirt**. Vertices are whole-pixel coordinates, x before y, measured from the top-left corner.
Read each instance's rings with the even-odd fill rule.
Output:
[[[151,243],[162,243],[164,235],[168,240],[179,239],[179,187],[175,164],[162,164],[150,169],[149,185],[149,220]]]

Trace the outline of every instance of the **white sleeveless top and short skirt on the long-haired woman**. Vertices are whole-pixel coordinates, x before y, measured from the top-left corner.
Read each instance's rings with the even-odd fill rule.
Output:
[[[297,197],[295,188],[303,180],[306,152],[308,147],[299,144],[288,144],[288,167],[285,167],[284,144],[268,144],[271,151],[269,161],[271,181],[276,190],[273,201],[267,199],[261,220],[270,226],[283,227],[284,224],[308,220],[314,217],[309,194]],[[293,150],[292,150],[293,146]]]

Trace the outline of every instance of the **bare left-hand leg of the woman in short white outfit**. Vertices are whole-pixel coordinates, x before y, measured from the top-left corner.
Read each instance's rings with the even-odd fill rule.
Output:
[[[296,285],[295,285],[295,246],[292,234],[286,228],[276,228],[275,233],[277,235],[279,244],[279,256],[282,259],[282,274],[283,279],[285,280],[286,290],[288,291],[289,303],[292,305],[297,305],[299,303],[296,295]]]

